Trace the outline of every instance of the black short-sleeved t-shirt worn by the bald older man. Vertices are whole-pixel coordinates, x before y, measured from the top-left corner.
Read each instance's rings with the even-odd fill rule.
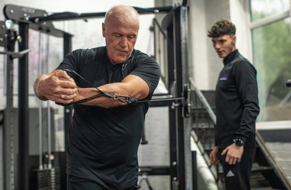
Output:
[[[129,74],[139,76],[150,88],[150,95],[144,100],[151,99],[161,73],[157,62],[138,50],[133,50],[125,62],[112,65],[106,56],[106,46],[75,50],[57,69],[72,69],[96,87],[121,82]],[[73,78],[80,88],[92,87],[80,77]],[[135,185],[137,149],[148,108],[148,102],[109,109],[74,104],[67,173],[92,179],[108,189]]]

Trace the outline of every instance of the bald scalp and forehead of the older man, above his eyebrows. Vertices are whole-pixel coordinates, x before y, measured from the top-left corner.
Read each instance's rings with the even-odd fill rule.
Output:
[[[138,13],[130,6],[119,5],[112,7],[105,14],[105,25],[120,24],[125,27],[137,27],[140,28]]]

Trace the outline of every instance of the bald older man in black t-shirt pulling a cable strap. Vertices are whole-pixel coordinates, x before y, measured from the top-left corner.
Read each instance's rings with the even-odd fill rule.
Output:
[[[39,76],[34,91],[41,100],[71,103],[115,93],[150,100],[160,79],[157,62],[135,50],[137,11],[116,6],[102,23],[106,46],[69,53],[60,66]],[[77,72],[92,86],[63,69]],[[74,104],[67,147],[67,189],[137,189],[137,149],[149,103],[128,105],[108,96]]]

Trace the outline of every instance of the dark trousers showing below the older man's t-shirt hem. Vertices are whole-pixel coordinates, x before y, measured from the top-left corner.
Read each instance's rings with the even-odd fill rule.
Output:
[[[124,190],[136,190],[137,184],[135,186],[126,188]],[[73,175],[67,175],[67,190],[108,190],[101,184],[82,177],[76,177]]]

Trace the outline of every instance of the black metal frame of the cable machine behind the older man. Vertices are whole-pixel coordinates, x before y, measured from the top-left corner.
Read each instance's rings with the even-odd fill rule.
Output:
[[[195,155],[191,152],[190,135],[191,135],[191,122],[190,122],[190,90],[189,90],[189,74],[188,74],[188,60],[187,60],[187,7],[186,1],[183,1],[183,6],[167,6],[155,8],[138,8],[134,7],[140,14],[149,13],[167,13],[162,21],[162,28],[167,31],[167,49],[168,49],[168,89],[171,89],[170,95],[175,97],[184,97],[182,103],[178,100],[167,103],[169,106],[169,120],[170,120],[170,167],[166,168],[166,174],[170,175],[171,189],[184,190],[194,189],[195,176],[192,175],[194,170]],[[28,29],[34,29],[48,35],[62,37],[64,39],[64,56],[72,50],[72,35],[64,31],[55,29],[52,21],[60,20],[75,20],[88,18],[104,17],[103,13],[54,13],[48,15],[46,11],[34,8],[21,7],[15,5],[6,5],[4,7],[4,15],[7,20],[19,25],[19,36],[22,37],[20,43],[19,54],[27,53],[28,49]],[[6,38],[11,41],[12,38]],[[15,38],[14,38],[15,39]],[[14,40],[13,39],[13,40]],[[18,39],[18,37],[16,37]],[[1,45],[1,43],[0,43]],[[13,50],[13,49],[10,49]],[[10,57],[9,57],[10,58]],[[8,63],[11,61],[9,60]],[[8,70],[8,69],[7,69]],[[7,87],[13,88],[12,71],[13,65],[10,65],[9,75],[7,75]],[[174,72],[173,72],[174,71]],[[8,88],[7,88],[8,89]],[[7,109],[13,109],[13,94],[7,93]],[[29,189],[29,168],[28,168],[28,56],[23,55],[19,59],[19,172],[18,176],[18,189]],[[69,126],[72,122],[73,106],[66,106],[65,108],[65,134],[68,133]],[[9,116],[9,111],[5,114],[4,130],[5,137],[4,147],[4,173],[11,174],[5,175],[4,189],[15,189],[15,172],[11,169],[14,167],[15,161],[10,159],[13,154],[16,154],[13,149],[13,130],[8,130],[12,127],[14,116]],[[12,136],[8,135],[11,134]],[[65,147],[68,142],[65,138]],[[13,166],[13,167],[12,167]],[[152,175],[158,175],[158,172],[152,172]],[[164,173],[165,174],[165,173]]]

